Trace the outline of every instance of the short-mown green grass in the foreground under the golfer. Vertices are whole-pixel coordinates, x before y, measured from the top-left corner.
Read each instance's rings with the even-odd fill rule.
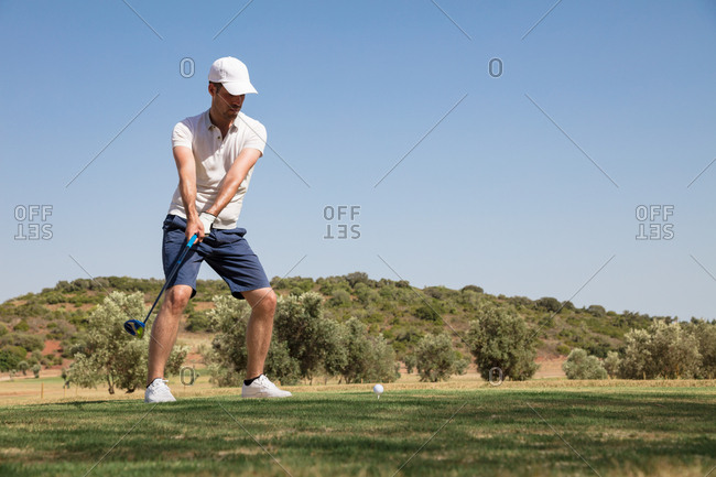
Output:
[[[312,388],[2,406],[0,475],[704,477],[716,466],[713,381],[387,384],[380,400],[370,386]]]

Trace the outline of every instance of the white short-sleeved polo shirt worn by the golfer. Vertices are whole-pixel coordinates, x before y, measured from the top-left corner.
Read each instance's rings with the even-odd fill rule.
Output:
[[[243,112],[234,120],[226,138],[221,138],[219,128],[211,124],[208,109],[200,115],[184,119],[174,127],[172,132],[172,148],[184,145],[194,153],[196,163],[196,210],[200,214],[208,209],[216,200],[221,186],[221,181],[234,164],[236,158],[246,148],[258,149],[263,154],[265,147],[265,128],[256,119]],[[249,182],[253,167],[246,174],[236,195],[224,207],[214,223],[215,228],[236,228],[243,196],[249,189]],[[186,218],[186,210],[182,202],[180,187],[174,191],[170,214]]]

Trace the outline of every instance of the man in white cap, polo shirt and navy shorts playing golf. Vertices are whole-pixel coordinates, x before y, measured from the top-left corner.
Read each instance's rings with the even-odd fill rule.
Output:
[[[237,227],[253,165],[265,147],[263,124],[240,112],[245,95],[257,90],[246,65],[230,56],[214,62],[208,89],[210,108],[184,119],[172,133],[180,181],[163,226],[165,274],[187,240],[195,234],[198,238],[167,284],[164,303],[152,326],[145,402],[175,401],[164,380],[164,367],[176,342],[182,312],[196,294],[196,277],[203,261],[226,281],[235,297],[251,306],[241,397],[291,395],[263,375],[276,296],[243,238],[246,229]]]

